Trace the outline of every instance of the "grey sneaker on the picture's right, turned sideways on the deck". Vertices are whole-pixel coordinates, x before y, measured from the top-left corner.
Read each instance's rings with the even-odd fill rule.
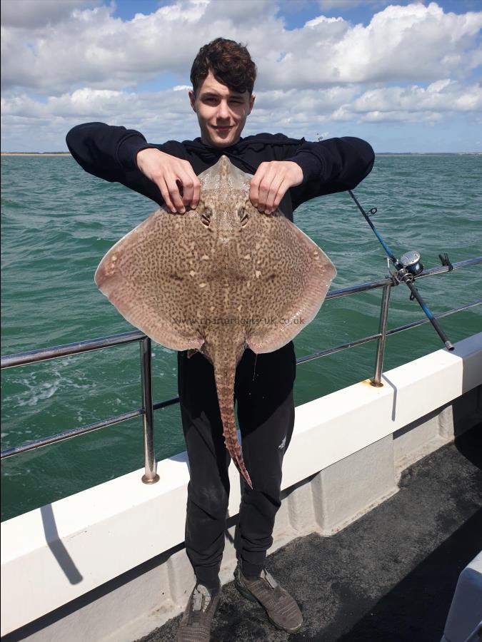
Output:
[[[242,596],[261,604],[268,620],[276,628],[288,633],[295,633],[301,628],[303,616],[298,604],[266,569],[263,569],[260,577],[248,579],[243,576],[238,564],[234,571],[234,585]]]

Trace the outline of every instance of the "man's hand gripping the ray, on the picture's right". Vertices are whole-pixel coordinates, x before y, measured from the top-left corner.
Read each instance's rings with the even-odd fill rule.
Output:
[[[303,170],[293,161],[268,161],[261,163],[251,178],[249,200],[255,208],[272,214],[289,188],[301,185]]]

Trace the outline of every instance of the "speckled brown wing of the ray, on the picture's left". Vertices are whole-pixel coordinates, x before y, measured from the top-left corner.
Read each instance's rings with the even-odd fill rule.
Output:
[[[193,224],[192,213],[156,210],[106,253],[94,277],[126,320],[173,350],[199,349],[203,343],[190,320],[198,301],[186,273],[186,258],[194,250],[186,229]]]

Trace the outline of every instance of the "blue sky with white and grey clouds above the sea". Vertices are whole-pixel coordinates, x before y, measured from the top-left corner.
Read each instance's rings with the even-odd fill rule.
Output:
[[[199,136],[189,72],[222,36],[258,68],[243,136],[482,153],[482,0],[2,0],[1,151],[79,123]]]

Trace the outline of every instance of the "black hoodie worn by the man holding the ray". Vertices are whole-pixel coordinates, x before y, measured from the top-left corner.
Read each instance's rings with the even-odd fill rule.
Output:
[[[85,123],[72,128],[66,141],[72,156],[86,172],[122,183],[159,205],[164,203],[159,188],[136,165],[136,155],[141,149],[156,148],[183,158],[191,163],[196,174],[214,165],[223,154],[249,174],[256,173],[263,161],[294,161],[303,170],[303,183],[288,190],[281,205],[291,220],[293,210],[306,200],[355,188],[370,173],[375,158],[368,143],[350,136],[308,143],[304,138],[261,133],[224,148],[207,146],[201,138],[151,145],[134,129]]]

